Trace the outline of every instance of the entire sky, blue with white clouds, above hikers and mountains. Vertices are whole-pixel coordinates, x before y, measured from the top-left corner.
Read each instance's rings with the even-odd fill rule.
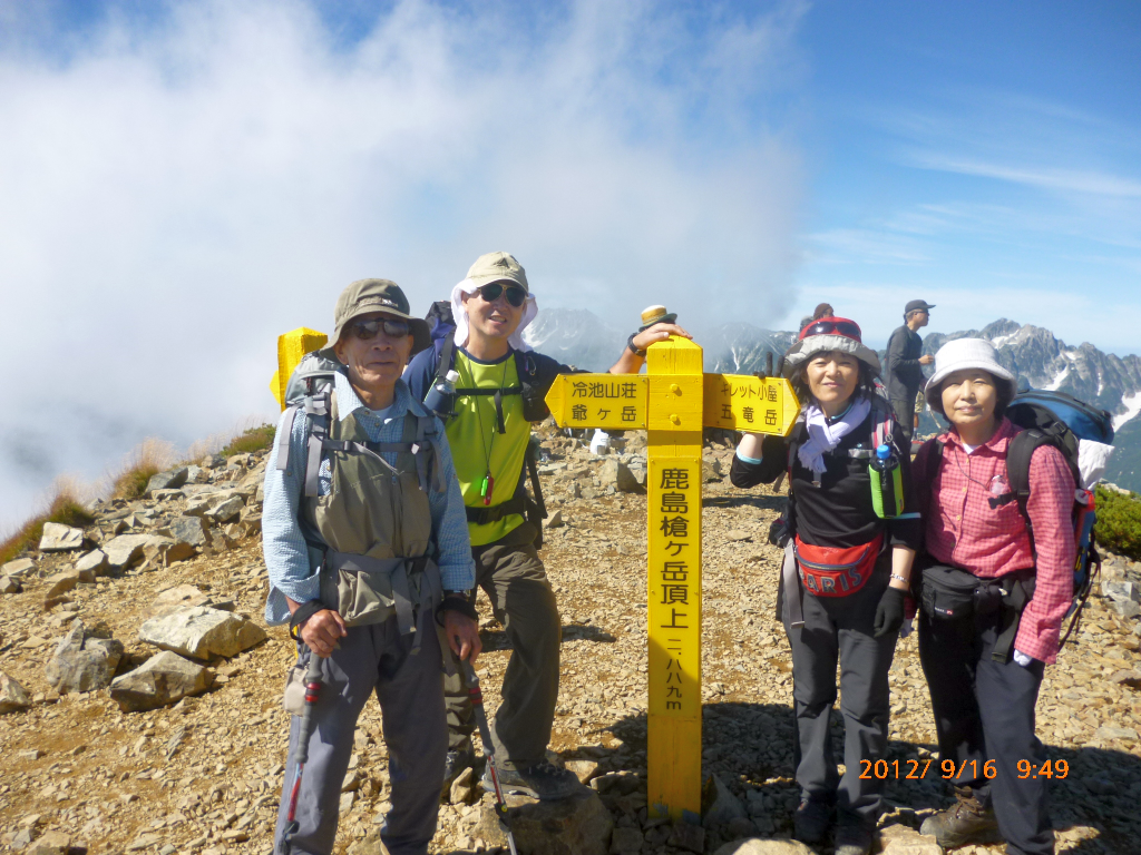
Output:
[[[507,249],[617,327],[1141,328],[1136,3],[0,0],[0,529],[273,417],[276,335]],[[35,432],[27,424],[41,425]]]

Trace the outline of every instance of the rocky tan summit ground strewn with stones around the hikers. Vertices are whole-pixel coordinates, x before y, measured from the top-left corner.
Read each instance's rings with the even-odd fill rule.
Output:
[[[552,524],[542,555],[564,625],[551,748],[593,780],[609,813],[613,834],[591,850],[714,852],[741,837],[786,838],[796,801],[791,660],[774,619],[779,553],[766,543],[782,497],[729,486],[720,473],[731,451],[719,446],[706,449],[704,772],[719,779],[736,819],[691,833],[647,816],[646,500],[618,489],[645,480],[639,442],[631,434],[621,457],[551,434],[544,442]],[[264,457],[207,463],[155,484],[152,498],[99,506],[79,535],[51,532],[62,551],[5,565],[0,852],[272,850],[289,724],[281,691],[294,654],[285,630],[261,619]],[[88,556],[92,546],[105,557]],[[1141,567],[1111,559],[1106,579],[1047,668],[1038,705],[1039,735],[1068,764],[1052,782],[1059,852],[1135,853],[1141,838],[1141,588],[1130,584]],[[482,612],[489,614],[486,601]],[[480,674],[494,708],[510,650],[491,619],[484,638]],[[144,663],[165,676],[144,678]],[[908,760],[934,762],[921,780],[889,772],[884,841],[889,852],[933,852],[904,833],[948,804],[914,635],[898,645],[891,682],[891,759],[900,775],[914,768]],[[343,787],[339,852],[377,852],[389,795],[380,724],[371,702]],[[463,790],[442,807],[435,852],[495,842],[486,801],[468,804],[477,795]]]

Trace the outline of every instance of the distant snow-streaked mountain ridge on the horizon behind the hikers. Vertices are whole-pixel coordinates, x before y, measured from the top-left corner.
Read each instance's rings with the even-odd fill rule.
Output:
[[[586,309],[544,309],[524,339],[560,361],[606,370],[625,347],[626,335]],[[1110,413],[1117,450],[1106,479],[1141,492],[1141,357],[1103,353],[1089,342],[1070,347],[1049,329],[1006,318],[981,329],[929,333],[923,352],[933,355],[948,341],[968,337],[992,342],[1000,361],[1035,389],[1067,392]],[[776,361],[796,334],[734,321],[704,331],[697,340],[705,349],[706,370],[752,374],[764,370],[767,353]],[[931,369],[926,370],[930,375]],[[922,427],[933,431],[937,426],[928,414]]]

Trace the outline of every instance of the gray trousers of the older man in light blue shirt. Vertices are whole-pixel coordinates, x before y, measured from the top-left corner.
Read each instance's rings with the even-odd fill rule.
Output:
[[[412,656],[412,636],[399,634],[394,616],[383,624],[349,627],[340,649],[322,660],[309,762],[298,797],[300,828],[293,836],[291,855],[332,853],[341,782],[353,755],[357,718],[374,690],[383,715],[393,787],[393,809],[380,837],[391,855],[428,852],[436,833],[444,783],[447,730],[439,638],[436,633],[427,632],[420,643],[420,651]],[[300,722],[294,716],[290,728],[285,787],[274,833],[278,853],[296,775],[293,758]]]

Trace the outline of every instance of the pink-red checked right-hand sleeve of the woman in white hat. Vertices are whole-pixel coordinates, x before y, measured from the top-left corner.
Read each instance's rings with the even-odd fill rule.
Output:
[[[1030,458],[1027,513],[1037,553],[1034,597],[1022,612],[1014,649],[1043,662],[1058,658],[1058,636],[1074,596],[1074,477],[1061,451],[1042,446]]]

